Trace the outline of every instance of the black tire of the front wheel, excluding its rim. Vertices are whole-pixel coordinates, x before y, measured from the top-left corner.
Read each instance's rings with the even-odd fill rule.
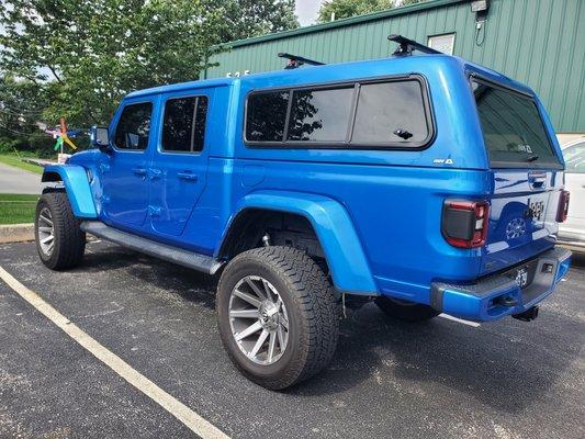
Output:
[[[54,247],[46,255],[38,238],[38,215],[43,209],[50,211],[54,224]],[[43,263],[52,270],[74,268],[81,262],[86,250],[86,234],[79,228],[66,192],[44,193],[36,204],[34,233],[36,250]]]

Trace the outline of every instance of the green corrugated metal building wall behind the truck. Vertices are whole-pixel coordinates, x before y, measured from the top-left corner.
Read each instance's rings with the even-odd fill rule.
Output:
[[[485,31],[485,34],[484,34]],[[435,0],[387,12],[232,43],[207,78],[280,69],[288,52],[324,63],[389,56],[402,34],[427,44],[455,33],[453,55],[532,87],[558,132],[585,133],[585,0],[492,0],[477,35],[469,0]]]

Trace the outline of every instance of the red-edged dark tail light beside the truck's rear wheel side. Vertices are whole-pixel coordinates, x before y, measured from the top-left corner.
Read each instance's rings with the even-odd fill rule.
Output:
[[[487,201],[447,200],[442,210],[442,235],[459,248],[475,248],[485,244],[490,225]]]

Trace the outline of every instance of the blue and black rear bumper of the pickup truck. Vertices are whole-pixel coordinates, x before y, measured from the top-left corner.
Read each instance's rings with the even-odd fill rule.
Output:
[[[530,262],[536,271],[524,289],[510,277],[513,270],[487,275],[473,284],[434,282],[430,304],[441,313],[476,322],[522,313],[554,291],[569,271],[571,251],[553,248],[520,266]]]

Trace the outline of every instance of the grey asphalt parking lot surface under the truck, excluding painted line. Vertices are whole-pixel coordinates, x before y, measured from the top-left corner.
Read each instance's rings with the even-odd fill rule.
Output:
[[[274,393],[244,379],[217,335],[214,279],[103,243],[52,272],[34,245],[0,267],[226,435],[585,437],[585,260],[532,323],[341,323],[327,371]],[[192,437],[153,399],[0,281],[0,437]]]

